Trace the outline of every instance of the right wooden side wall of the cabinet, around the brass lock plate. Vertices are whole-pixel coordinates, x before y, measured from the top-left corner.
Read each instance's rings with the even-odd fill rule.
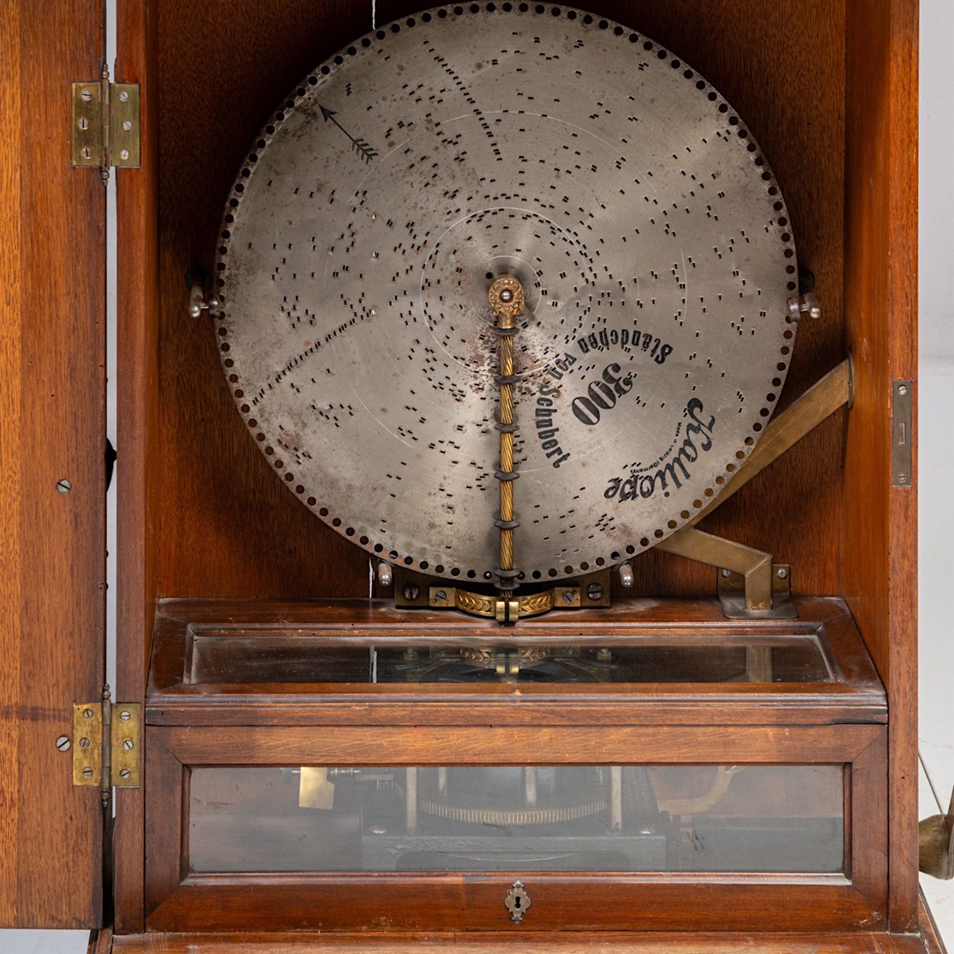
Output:
[[[842,587],[891,712],[891,926],[918,925],[917,386],[910,485],[891,483],[892,383],[918,377],[918,2],[850,0],[845,307],[855,406]]]

